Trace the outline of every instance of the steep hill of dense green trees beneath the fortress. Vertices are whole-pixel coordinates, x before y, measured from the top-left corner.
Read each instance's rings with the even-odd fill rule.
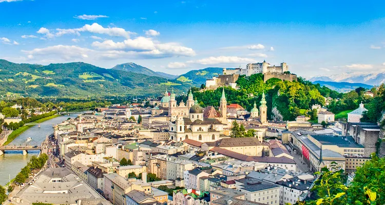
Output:
[[[257,103],[257,107],[260,106],[261,95],[265,92],[267,116],[270,119],[277,117],[279,120],[294,120],[296,116],[303,114],[314,104],[325,105],[324,97],[334,99],[342,97],[341,93],[321,87],[319,84],[314,85],[301,77],[298,82],[272,78],[263,83],[263,75],[254,74],[249,77],[241,76],[237,84],[240,87],[239,90],[225,88],[227,103],[237,103],[250,111],[254,102]],[[221,89],[196,91],[194,96],[202,106],[219,106],[221,93]],[[282,117],[272,114],[273,108],[276,108]]]

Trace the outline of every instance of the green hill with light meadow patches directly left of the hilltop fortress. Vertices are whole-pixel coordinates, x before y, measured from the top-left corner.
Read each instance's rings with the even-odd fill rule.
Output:
[[[201,70],[192,70],[177,77],[180,82],[190,82],[196,86],[206,83],[206,79],[222,74],[223,68],[205,68]]]

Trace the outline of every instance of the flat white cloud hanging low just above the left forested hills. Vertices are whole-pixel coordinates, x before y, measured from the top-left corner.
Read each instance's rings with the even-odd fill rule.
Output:
[[[41,56],[43,58],[47,58],[47,56],[53,56],[63,60],[76,60],[88,58],[88,55],[90,52],[92,52],[92,50],[78,46],[57,45],[46,48],[35,48],[30,51],[22,50],[22,52],[27,54],[27,57],[30,59],[35,58],[35,56]]]

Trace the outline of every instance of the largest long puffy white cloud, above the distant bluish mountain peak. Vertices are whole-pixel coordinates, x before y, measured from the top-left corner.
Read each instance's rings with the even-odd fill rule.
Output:
[[[176,43],[154,42],[151,38],[139,36],[135,39],[126,39],[123,42],[113,42],[105,40],[104,42],[93,42],[93,47],[102,50],[122,50],[135,51],[143,55],[167,57],[167,56],[194,56],[195,51],[191,48],[180,46]]]

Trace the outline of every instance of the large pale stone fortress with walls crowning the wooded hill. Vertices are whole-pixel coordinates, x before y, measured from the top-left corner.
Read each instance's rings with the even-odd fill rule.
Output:
[[[263,61],[262,63],[247,64],[245,69],[236,68],[228,70],[224,68],[222,75],[206,80],[206,88],[215,90],[220,86],[231,86],[235,89],[237,86],[235,82],[238,80],[240,75],[251,76],[257,73],[263,74],[263,81],[265,82],[270,78],[297,81],[297,75],[288,72],[288,66],[286,63],[281,63],[280,66],[271,66],[269,63],[266,63],[266,61]]]

